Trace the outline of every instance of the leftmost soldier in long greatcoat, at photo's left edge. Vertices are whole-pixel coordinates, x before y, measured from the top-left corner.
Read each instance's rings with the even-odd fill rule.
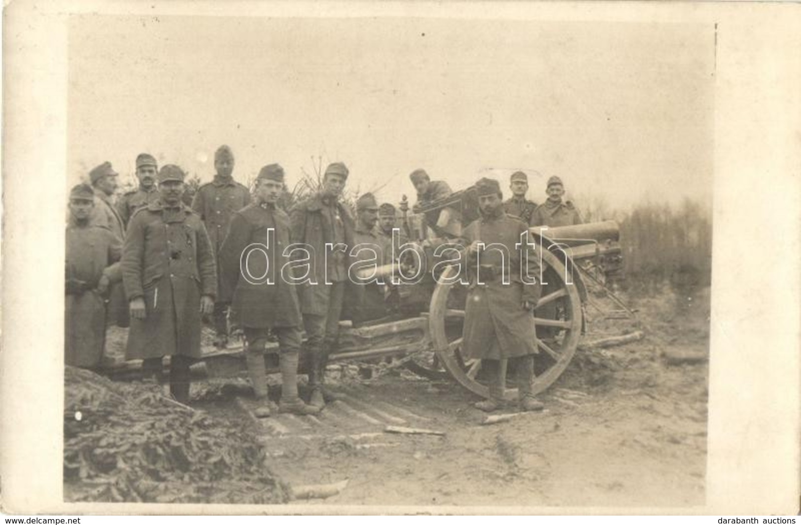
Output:
[[[66,226],[64,362],[86,368],[100,364],[106,341],[105,297],[122,275],[123,244],[109,228],[92,223],[95,192],[88,184],[70,191]]]

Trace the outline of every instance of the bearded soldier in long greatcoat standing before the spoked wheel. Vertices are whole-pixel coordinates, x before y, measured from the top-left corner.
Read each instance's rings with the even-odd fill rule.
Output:
[[[540,410],[531,388],[538,351],[533,318],[540,297],[538,254],[526,224],[504,212],[497,180],[481,179],[476,190],[481,219],[465,228],[470,285],[463,339],[465,358],[481,359],[489,377],[489,398],[476,407],[492,411],[502,406],[505,359],[517,372],[521,410]]]

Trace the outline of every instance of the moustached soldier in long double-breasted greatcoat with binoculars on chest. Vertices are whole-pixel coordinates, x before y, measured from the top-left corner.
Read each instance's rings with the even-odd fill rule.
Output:
[[[170,391],[189,400],[189,366],[200,357],[201,315],[217,293],[214,252],[206,228],[181,202],[185,173],[159,171],[159,200],[139,208],[123,246],[123,284],[131,309],[127,359],[143,359],[145,374],[159,375],[170,356]]]

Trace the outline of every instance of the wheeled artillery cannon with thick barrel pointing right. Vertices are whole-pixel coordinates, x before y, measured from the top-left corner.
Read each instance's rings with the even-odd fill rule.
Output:
[[[468,188],[444,202],[418,207],[416,211],[428,217],[438,208],[448,206],[458,212],[465,226],[478,216],[474,193],[473,188]],[[404,212],[406,232],[413,233],[406,217],[405,200],[400,209]],[[473,393],[486,396],[488,388],[481,374],[481,361],[465,359],[461,353],[467,286],[453,280],[457,267],[449,265],[441,253],[437,253],[437,247],[452,242],[457,236],[431,236],[426,232],[425,220],[422,224],[422,231],[412,235],[417,240],[407,246],[409,254],[413,251],[417,256],[410,257],[411,262],[401,257],[400,263],[380,266],[374,275],[399,277],[404,272],[408,275],[416,271],[419,264],[433,271],[426,271],[414,284],[395,285],[395,304],[388,316],[360,325],[341,321],[340,345],[329,355],[329,362],[400,357],[418,374],[429,378],[449,375]],[[541,256],[542,282],[548,283],[534,317],[538,327],[552,327],[553,334],[547,341],[537,341],[541,352],[533,382],[536,394],[551,386],[566,370],[585,331],[587,290],[582,276],[587,273],[584,265],[590,261],[595,268],[614,269],[619,265],[621,249],[618,224],[614,221],[562,228],[535,227],[529,232],[537,244],[535,252]],[[424,240],[425,236],[429,238]],[[271,373],[278,371],[276,357],[270,353],[265,355]],[[245,370],[241,347],[211,351],[204,354],[204,361],[211,376],[239,374]],[[505,362],[501,361],[501,366],[505,366]],[[301,372],[303,369],[301,359]],[[513,387],[513,383],[509,386]],[[514,388],[505,390],[507,398],[515,395]]]

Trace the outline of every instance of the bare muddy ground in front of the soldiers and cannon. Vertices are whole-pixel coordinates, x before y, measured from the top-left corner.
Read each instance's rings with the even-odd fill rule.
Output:
[[[708,290],[626,301],[636,321],[605,320],[590,305],[585,341],[635,329],[642,341],[579,350],[541,394],[543,412],[496,425],[482,426],[485,414],[470,406],[477,398],[447,378],[382,367],[365,379],[358,363],[332,365],[340,399],[316,417],[256,418],[245,376],[195,383],[193,406],[248,422],[288,483],[348,480],[312,504],[702,505],[707,364],[672,365],[665,353],[708,355]],[[445,435],[388,434],[388,425]]]

